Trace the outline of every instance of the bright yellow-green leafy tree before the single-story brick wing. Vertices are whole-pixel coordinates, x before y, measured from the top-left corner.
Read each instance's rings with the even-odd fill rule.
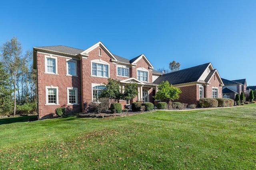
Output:
[[[154,96],[156,100],[165,100],[166,102],[169,102],[170,100],[174,101],[178,99],[181,93],[180,88],[176,88],[172,86],[172,84],[169,84],[168,81],[163,81],[161,84],[158,85],[158,92]]]

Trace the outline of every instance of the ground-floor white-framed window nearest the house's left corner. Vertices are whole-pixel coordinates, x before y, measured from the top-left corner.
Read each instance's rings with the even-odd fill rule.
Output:
[[[58,87],[46,86],[46,105],[56,105],[58,103]]]

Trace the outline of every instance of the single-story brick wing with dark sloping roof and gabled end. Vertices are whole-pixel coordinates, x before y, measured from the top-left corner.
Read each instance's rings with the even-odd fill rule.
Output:
[[[177,100],[181,103],[198,104],[200,98],[222,98],[223,82],[211,63],[162,74],[154,83],[166,80],[182,91]]]

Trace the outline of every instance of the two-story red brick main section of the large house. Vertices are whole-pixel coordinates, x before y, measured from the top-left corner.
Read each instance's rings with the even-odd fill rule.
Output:
[[[67,113],[85,111],[91,102],[98,102],[103,83],[108,78],[120,82],[120,89],[127,83],[138,84],[136,100],[154,102],[157,84],[153,80],[161,75],[153,70],[145,55],[125,59],[113,55],[102,42],[81,50],[66,46],[33,48],[33,67],[38,76],[38,115],[55,115],[57,107],[66,107]]]

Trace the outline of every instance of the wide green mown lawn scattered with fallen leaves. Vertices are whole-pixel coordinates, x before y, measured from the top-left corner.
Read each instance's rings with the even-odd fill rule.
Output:
[[[256,104],[104,119],[28,118],[0,119],[1,169],[256,169]]]

